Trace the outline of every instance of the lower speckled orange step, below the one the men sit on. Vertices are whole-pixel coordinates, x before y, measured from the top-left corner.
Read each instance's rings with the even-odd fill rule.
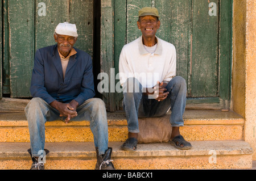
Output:
[[[134,152],[120,149],[122,142],[109,142],[115,169],[251,169],[253,149],[245,141],[191,141],[190,150],[168,143],[138,144]],[[0,169],[30,169],[26,142],[0,143]],[[94,169],[93,142],[48,142],[46,169]]]

